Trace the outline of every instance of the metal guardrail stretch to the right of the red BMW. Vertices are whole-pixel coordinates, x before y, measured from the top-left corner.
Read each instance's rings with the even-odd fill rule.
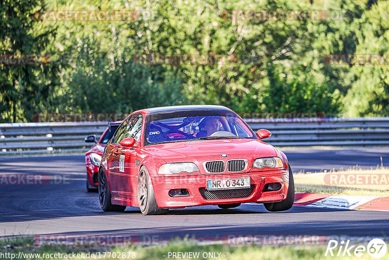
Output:
[[[389,145],[389,117],[248,119],[257,130],[270,130],[274,146]]]

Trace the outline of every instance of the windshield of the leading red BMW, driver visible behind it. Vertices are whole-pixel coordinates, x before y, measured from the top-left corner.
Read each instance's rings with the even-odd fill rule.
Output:
[[[145,145],[227,138],[256,139],[232,111],[176,111],[151,114],[146,119]]]

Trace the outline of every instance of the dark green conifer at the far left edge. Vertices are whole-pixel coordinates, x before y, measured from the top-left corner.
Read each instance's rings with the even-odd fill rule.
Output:
[[[43,27],[36,11],[43,0],[2,0],[0,2],[0,53],[42,55],[53,42],[55,28]],[[6,62],[5,62],[6,63]],[[56,82],[56,66],[0,64],[0,121],[31,121],[33,114],[50,98]]]

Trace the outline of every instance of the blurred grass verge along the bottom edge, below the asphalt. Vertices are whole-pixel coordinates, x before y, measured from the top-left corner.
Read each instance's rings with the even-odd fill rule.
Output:
[[[8,256],[19,252],[23,252],[25,260],[53,260],[53,259],[69,259],[69,260],[87,260],[87,259],[137,259],[137,260],[159,260],[159,259],[178,259],[173,258],[173,253],[180,253],[179,259],[220,259],[220,260],[318,260],[318,259],[355,259],[352,257],[336,257],[337,250],[334,249],[335,257],[325,257],[326,245],[294,245],[294,246],[255,246],[255,245],[240,245],[229,246],[224,244],[198,245],[188,242],[170,242],[163,246],[151,247],[135,247],[135,246],[58,246],[44,245],[37,246],[33,242],[33,238],[12,238],[0,239],[0,255],[8,253]],[[100,253],[99,255],[97,253]],[[185,257],[185,253],[193,252],[198,254],[198,257]],[[89,254],[88,254],[89,253]],[[342,252],[341,252],[342,253]],[[27,256],[26,254],[35,254]],[[40,255],[37,255],[40,254]],[[50,254],[63,254],[62,258],[55,258]],[[66,257],[64,255],[66,254]],[[73,257],[79,254],[79,257]],[[95,258],[91,258],[91,254],[95,254]],[[121,257],[118,257],[118,256]],[[115,256],[115,257],[114,257]],[[177,256],[177,255],[176,255]],[[188,255],[187,255],[188,256]],[[195,255],[196,256],[196,255]],[[11,260],[4,255],[1,259]],[[14,258],[17,259],[17,258]],[[358,259],[371,259],[368,253]],[[389,254],[386,254],[382,260],[389,259]]]

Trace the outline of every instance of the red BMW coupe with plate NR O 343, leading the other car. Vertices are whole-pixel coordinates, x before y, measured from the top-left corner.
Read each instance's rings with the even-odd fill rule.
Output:
[[[285,154],[223,106],[173,106],[135,111],[107,142],[99,168],[104,211],[263,203],[292,207],[292,170]]]

